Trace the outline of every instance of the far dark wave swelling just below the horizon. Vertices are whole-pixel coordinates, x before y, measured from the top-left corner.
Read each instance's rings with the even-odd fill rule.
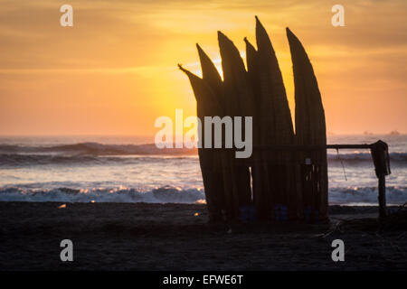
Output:
[[[53,146],[23,146],[0,144],[0,166],[35,164],[104,164],[147,161],[154,156],[191,156],[196,149],[164,148],[155,144],[80,143]],[[127,157],[123,157],[127,156]],[[329,163],[372,163],[370,153],[327,154]],[[406,153],[391,153],[394,164],[407,165]]]

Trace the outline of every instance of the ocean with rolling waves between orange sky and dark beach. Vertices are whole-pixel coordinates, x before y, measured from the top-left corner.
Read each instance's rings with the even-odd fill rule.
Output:
[[[389,144],[387,203],[407,201],[407,135],[329,135],[328,144]],[[0,201],[204,202],[199,160],[152,137],[0,137]],[[330,204],[377,205],[368,150],[328,151]]]

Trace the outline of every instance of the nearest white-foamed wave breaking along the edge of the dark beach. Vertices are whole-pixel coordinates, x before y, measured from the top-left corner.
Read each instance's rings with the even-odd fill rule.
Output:
[[[337,187],[329,189],[331,204],[372,204],[377,205],[377,187]],[[151,191],[137,191],[131,188],[113,189],[70,189],[51,190],[19,187],[0,188],[0,201],[59,201],[59,202],[153,202],[153,203],[203,203],[204,190],[180,189],[163,186]],[[407,201],[407,187],[388,186],[388,204],[402,204]]]

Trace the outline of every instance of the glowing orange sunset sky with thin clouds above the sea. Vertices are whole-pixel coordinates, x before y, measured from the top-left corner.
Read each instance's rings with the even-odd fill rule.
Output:
[[[60,25],[61,5],[74,10]],[[345,27],[331,24],[345,6]],[[154,135],[156,117],[195,114],[176,63],[200,73],[195,42],[219,60],[216,31],[244,52],[260,17],[291,111],[285,27],[305,45],[336,134],[407,132],[407,2],[304,0],[2,0],[0,135]]]

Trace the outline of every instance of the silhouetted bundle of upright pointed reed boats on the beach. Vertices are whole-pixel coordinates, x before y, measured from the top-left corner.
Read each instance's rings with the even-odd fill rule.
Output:
[[[250,159],[235,158],[233,149],[198,148],[213,221],[250,219],[251,214],[253,219],[328,220],[324,107],[307,52],[289,28],[287,37],[294,72],[295,133],[276,53],[257,16],[257,50],[244,39],[247,70],[239,50],[221,32],[218,41],[223,79],[198,44],[203,77],[179,65],[191,82],[197,117],[252,117],[252,144],[256,149]],[[204,139],[201,141],[204,144]],[[270,145],[321,148],[261,149]]]

